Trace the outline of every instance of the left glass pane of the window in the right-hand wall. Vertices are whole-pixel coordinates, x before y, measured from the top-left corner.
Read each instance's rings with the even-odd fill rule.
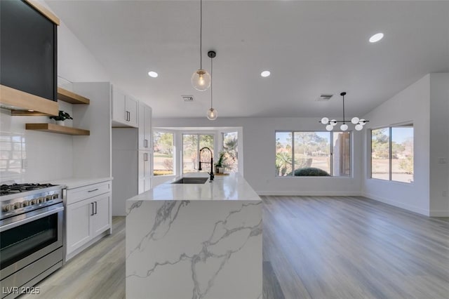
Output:
[[[389,128],[371,131],[371,178],[389,180]]]

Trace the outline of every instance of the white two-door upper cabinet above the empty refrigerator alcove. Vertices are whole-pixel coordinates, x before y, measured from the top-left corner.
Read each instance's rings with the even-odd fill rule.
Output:
[[[112,86],[112,121],[125,126],[138,127],[138,100]]]

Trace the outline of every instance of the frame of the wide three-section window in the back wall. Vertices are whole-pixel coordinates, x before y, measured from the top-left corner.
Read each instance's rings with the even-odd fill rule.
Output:
[[[329,151],[329,174],[330,176],[295,176],[294,175],[294,171],[295,171],[295,132],[296,133],[329,133],[330,138],[329,138],[329,147],[330,147],[330,151]],[[292,175],[275,175],[276,178],[353,178],[353,173],[354,173],[354,166],[353,166],[353,162],[354,162],[354,150],[353,150],[353,138],[354,138],[354,132],[352,130],[348,130],[348,131],[319,131],[319,130],[306,130],[306,131],[299,131],[299,130],[276,130],[274,131],[274,140],[276,142],[276,133],[291,133],[292,134],[292,142],[291,142],[291,147],[292,147]],[[335,176],[333,175],[333,168],[334,168],[334,150],[333,150],[333,143],[334,143],[334,134],[333,133],[349,133],[349,154],[350,159],[349,159],[349,175],[338,175]],[[274,146],[274,152],[276,154],[276,143]]]

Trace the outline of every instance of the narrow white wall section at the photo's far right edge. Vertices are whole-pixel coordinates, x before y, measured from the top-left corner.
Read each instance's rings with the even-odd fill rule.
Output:
[[[442,161],[443,160],[443,161]],[[449,217],[449,74],[430,74],[430,215]],[[445,196],[443,196],[445,194]]]

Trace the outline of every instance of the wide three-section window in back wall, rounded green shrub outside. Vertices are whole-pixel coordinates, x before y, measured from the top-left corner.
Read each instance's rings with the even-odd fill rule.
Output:
[[[276,175],[350,176],[351,133],[276,132]]]

